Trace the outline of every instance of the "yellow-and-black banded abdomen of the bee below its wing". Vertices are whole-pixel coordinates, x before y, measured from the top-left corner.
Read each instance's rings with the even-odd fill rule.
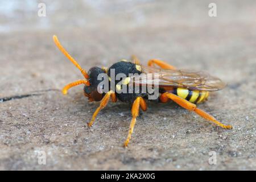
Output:
[[[199,91],[199,90],[188,90],[184,88],[177,88],[172,90],[174,94],[184,98],[185,100],[192,102],[194,104],[199,104],[200,102],[205,101],[205,99],[209,96],[209,92],[207,91]]]

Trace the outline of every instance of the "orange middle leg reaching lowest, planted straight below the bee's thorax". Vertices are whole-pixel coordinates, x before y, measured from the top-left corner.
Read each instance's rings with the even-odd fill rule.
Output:
[[[125,147],[127,147],[128,143],[130,142],[131,134],[133,133],[134,125],[136,123],[136,118],[139,115],[139,107],[141,107],[143,111],[147,110],[147,104],[142,97],[137,97],[136,100],[133,102],[133,107],[131,108],[131,115],[133,116],[133,119],[131,119],[127,139],[125,143],[123,143],[123,146]]]

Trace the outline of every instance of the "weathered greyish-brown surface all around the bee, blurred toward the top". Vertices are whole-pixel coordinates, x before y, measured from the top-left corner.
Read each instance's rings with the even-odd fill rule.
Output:
[[[0,169],[256,169],[255,1],[5,1],[0,11]],[[148,103],[128,148],[130,105],[99,103],[82,86],[60,92],[81,73],[52,42],[88,70],[135,54],[177,68],[203,69],[228,82],[199,105],[224,130],[170,102]],[[38,163],[40,152],[46,164]],[[216,165],[209,165],[209,152]]]

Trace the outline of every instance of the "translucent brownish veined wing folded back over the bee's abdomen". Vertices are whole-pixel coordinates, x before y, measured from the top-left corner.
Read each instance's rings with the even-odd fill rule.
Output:
[[[142,74],[130,77],[130,84],[204,91],[216,91],[226,86],[220,78],[210,76],[203,71],[159,69],[143,65],[141,67]]]

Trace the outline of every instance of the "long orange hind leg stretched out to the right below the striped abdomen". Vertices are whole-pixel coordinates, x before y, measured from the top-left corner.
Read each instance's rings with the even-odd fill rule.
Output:
[[[207,112],[205,112],[205,111],[203,111],[201,109],[198,109],[195,104],[192,104],[191,102],[189,102],[187,100],[184,100],[184,98],[176,96],[173,93],[166,92],[166,93],[163,93],[161,95],[161,97],[163,97],[163,98],[164,97],[170,98],[172,101],[176,102],[181,107],[184,107],[187,110],[195,111],[195,113],[197,113],[201,117],[203,117],[203,118],[205,118],[205,119],[207,119],[209,121],[214,122],[216,125],[224,128],[224,129],[232,129],[231,125],[224,125],[224,124],[222,124],[221,122],[217,121],[212,115],[208,114]]]

